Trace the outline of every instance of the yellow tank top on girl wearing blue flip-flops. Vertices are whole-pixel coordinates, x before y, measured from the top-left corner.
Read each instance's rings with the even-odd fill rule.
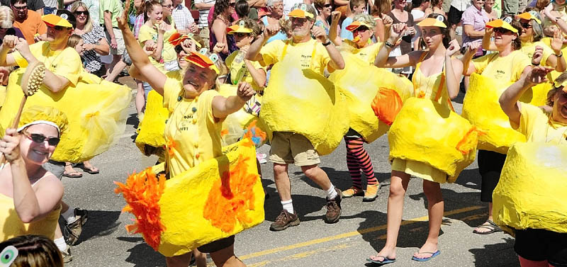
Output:
[[[450,110],[454,111],[449,92],[447,92],[447,84],[445,84],[445,67],[442,72],[425,76],[420,69],[420,65],[427,53],[423,53],[420,62],[415,65],[415,72],[412,76],[412,84],[414,96],[417,98],[430,98]]]

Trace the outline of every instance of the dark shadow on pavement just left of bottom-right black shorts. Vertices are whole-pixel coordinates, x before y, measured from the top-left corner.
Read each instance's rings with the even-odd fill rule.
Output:
[[[476,267],[520,266],[520,262],[514,251],[514,239],[512,237],[503,238],[502,243],[488,244],[485,245],[483,249],[469,249],[468,251],[471,251],[474,255]]]

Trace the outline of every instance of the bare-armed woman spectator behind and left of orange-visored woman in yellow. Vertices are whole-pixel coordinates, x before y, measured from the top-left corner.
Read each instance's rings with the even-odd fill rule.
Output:
[[[215,2],[213,13],[213,24],[210,27],[209,47],[215,47],[217,43],[222,44],[223,50],[219,53],[224,60],[232,52],[238,50],[232,35],[226,34],[226,28],[232,25],[232,13],[235,12],[235,0],[218,0]]]

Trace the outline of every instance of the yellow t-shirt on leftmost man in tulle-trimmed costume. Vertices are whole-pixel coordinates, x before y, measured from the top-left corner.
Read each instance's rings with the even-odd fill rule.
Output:
[[[49,69],[50,72],[64,76],[72,85],[76,85],[83,68],[81,56],[77,53],[77,50],[74,50],[73,47],[67,47],[61,51],[52,51],[49,47],[49,42],[36,42],[30,45],[30,52],[40,62],[43,62],[45,68]],[[20,52],[12,52],[11,55],[18,66],[28,67],[28,62]]]

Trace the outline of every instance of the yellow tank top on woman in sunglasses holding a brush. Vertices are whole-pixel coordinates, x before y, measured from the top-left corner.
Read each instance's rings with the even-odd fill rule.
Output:
[[[0,193],[0,222],[4,224],[1,227],[0,242],[23,234],[39,234],[53,240],[60,212],[61,205],[41,220],[23,223],[13,206],[13,198]]]

